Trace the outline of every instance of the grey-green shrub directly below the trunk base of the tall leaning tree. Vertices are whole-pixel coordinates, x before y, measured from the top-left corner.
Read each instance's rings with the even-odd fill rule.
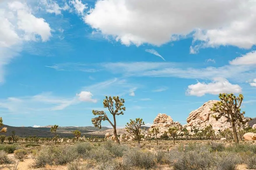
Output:
[[[110,140],[106,141],[102,147],[113,153],[115,157],[122,157],[124,155],[124,152],[127,151],[126,146],[113,144]]]

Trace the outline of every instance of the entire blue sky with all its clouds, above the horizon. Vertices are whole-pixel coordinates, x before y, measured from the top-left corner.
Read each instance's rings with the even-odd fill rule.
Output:
[[[186,124],[219,93],[256,117],[255,0],[1,0],[0,23],[4,124],[93,126],[116,95],[118,127]]]

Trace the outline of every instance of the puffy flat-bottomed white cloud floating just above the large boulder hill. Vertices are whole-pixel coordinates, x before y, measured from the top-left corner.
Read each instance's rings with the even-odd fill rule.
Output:
[[[219,93],[241,93],[242,88],[237,84],[231,84],[227,79],[215,78],[211,83],[191,84],[188,86],[187,94],[203,96],[205,94],[217,95]]]

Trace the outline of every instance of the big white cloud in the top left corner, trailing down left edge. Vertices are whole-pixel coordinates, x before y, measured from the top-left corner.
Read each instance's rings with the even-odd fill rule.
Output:
[[[19,54],[24,41],[47,41],[51,37],[49,24],[31,11],[20,1],[0,1],[0,82],[4,81],[4,66]]]

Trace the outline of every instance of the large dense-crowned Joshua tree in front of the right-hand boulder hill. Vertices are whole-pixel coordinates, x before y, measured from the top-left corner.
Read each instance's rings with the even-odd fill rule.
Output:
[[[215,116],[215,119],[220,119],[221,116],[225,116],[232,124],[232,129],[234,133],[235,142],[239,143],[237,132],[236,132],[236,124],[237,122],[244,123],[244,114],[245,112],[240,112],[241,104],[243,102],[243,95],[239,94],[236,97],[233,93],[226,94],[222,93],[219,95],[220,101],[215,103],[211,108],[211,111],[219,113],[219,115]]]

